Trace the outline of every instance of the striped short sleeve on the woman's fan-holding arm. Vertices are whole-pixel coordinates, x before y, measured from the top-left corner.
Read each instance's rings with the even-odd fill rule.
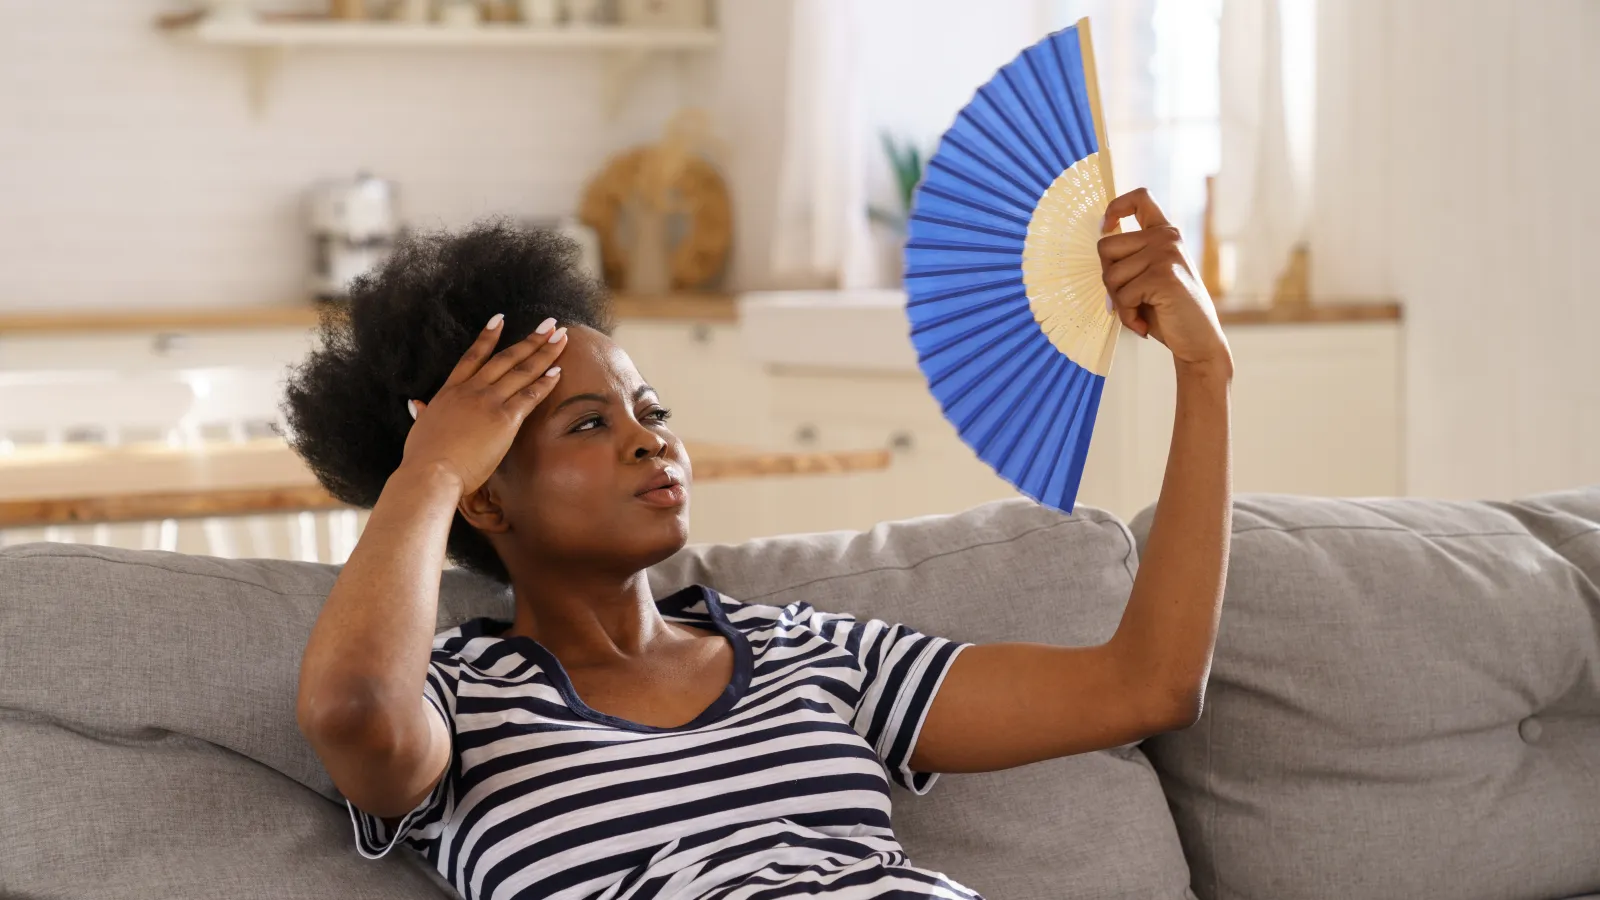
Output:
[[[861,669],[851,727],[872,745],[896,785],[926,794],[939,775],[915,772],[910,757],[950,663],[970,644],[875,618],[810,610],[810,620],[824,639],[848,650]]]

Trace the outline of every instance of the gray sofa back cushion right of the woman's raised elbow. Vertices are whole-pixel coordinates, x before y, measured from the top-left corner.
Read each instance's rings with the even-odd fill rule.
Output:
[[[1597,583],[1600,488],[1238,496],[1205,711],[1146,741],[1195,892],[1600,892]]]

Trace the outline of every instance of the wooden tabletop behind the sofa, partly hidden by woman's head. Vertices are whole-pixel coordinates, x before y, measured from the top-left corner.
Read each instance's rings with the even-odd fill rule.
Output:
[[[784,453],[690,444],[694,482],[886,469],[888,450]],[[0,528],[346,509],[277,439],[174,448],[72,445],[0,456]]]

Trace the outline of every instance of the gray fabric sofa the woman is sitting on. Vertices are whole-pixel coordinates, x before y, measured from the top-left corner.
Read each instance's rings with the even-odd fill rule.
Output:
[[[1600,487],[1520,503],[1237,500],[1200,722],[898,794],[912,860],[994,900],[1600,897]],[[1098,642],[1131,524],[1029,501],[690,548],[659,589],[805,597],[965,641]],[[0,551],[0,897],[438,898],[365,860],[294,727],[336,569]],[[438,626],[509,617],[443,575]]]

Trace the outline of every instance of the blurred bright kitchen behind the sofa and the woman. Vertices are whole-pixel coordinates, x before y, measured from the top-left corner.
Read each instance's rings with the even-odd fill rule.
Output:
[[[0,541],[341,562],[286,367],[406,227],[566,231],[674,407],[693,540],[1014,492],[906,336],[906,199],[1090,16],[1117,187],[1222,311],[1235,488],[1600,480],[1594,0],[67,0],[0,5]],[[1080,503],[1154,501],[1123,336]]]

